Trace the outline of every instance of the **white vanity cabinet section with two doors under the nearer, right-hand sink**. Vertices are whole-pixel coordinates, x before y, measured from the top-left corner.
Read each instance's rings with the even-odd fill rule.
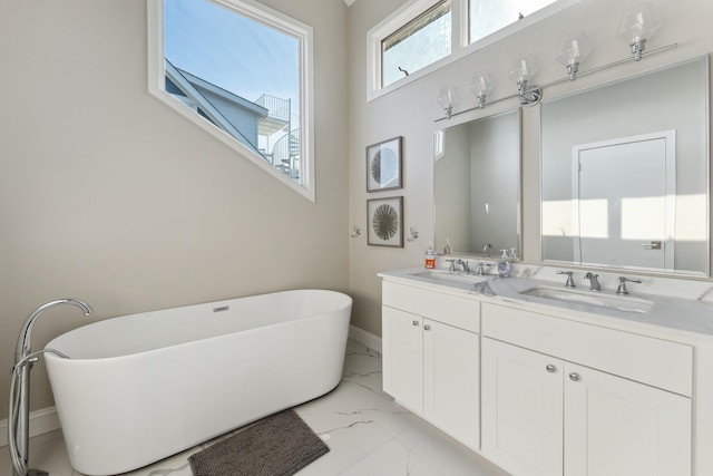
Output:
[[[692,474],[690,346],[482,303],[482,447],[518,476]]]

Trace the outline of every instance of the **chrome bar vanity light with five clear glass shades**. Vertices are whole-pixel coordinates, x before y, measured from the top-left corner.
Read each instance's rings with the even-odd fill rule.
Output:
[[[603,71],[605,69],[621,66],[631,60],[638,61],[645,56],[654,55],[657,52],[666,51],[672,48],[676,48],[678,45],[673,43],[658,49],[644,52],[644,46],[646,41],[654,36],[654,33],[661,27],[661,19],[656,13],[654,7],[651,3],[641,3],[624,13],[617,36],[625,38],[632,47],[632,56],[618,61],[611,62],[608,65],[598,66],[587,71],[579,71],[579,64],[583,62],[592,52],[592,45],[589,39],[584,33],[577,33],[563,38],[557,47],[557,60],[567,67],[568,76],[566,78],[556,79],[551,82],[547,82],[541,86],[528,86],[537,72],[537,66],[529,55],[518,58],[509,69],[509,77],[517,82],[517,94],[501,97],[497,99],[488,99],[487,104],[492,105],[504,100],[508,100],[517,97],[520,100],[520,106],[530,107],[535,106],[543,98],[543,90],[550,86],[559,85],[561,82],[572,81],[585,75]],[[478,104],[475,107],[459,110],[453,113],[455,100],[455,87],[445,86],[441,88],[438,96],[438,104],[441,105],[446,111],[446,117],[436,119],[436,123],[450,119],[452,116],[459,116],[461,114],[470,113],[471,110],[482,109],[486,106],[486,99],[490,94],[488,89],[489,77],[487,74],[484,76],[476,75],[470,84],[470,91],[478,98]],[[485,79],[487,78],[487,79]]]

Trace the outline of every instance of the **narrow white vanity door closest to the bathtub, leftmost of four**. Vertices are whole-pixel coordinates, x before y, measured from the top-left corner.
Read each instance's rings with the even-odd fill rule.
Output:
[[[423,415],[423,318],[382,307],[383,390]]]

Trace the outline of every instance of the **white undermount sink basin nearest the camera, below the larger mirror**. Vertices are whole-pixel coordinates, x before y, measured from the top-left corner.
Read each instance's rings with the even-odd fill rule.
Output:
[[[641,313],[649,312],[654,305],[653,302],[641,298],[569,288],[535,286],[520,291],[520,294]]]

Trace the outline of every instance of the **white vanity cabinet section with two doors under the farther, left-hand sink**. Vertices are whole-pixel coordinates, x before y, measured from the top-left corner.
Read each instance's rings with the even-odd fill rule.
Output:
[[[478,449],[480,303],[385,281],[382,302],[384,391]]]

